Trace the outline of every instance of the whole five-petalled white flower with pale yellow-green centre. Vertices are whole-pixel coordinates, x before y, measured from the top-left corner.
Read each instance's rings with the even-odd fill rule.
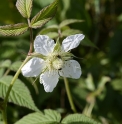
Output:
[[[60,46],[48,36],[38,35],[34,41],[34,49],[36,53],[44,55],[44,58],[33,57],[22,67],[22,74],[25,77],[40,75],[40,83],[44,85],[46,92],[53,91],[58,83],[59,76],[80,78],[80,64],[71,60],[72,54],[69,51],[76,48],[83,38],[83,34],[68,36]]]

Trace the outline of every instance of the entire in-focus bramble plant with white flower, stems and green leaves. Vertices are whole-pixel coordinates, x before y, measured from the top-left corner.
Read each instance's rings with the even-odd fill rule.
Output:
[[[30,33],[30,49],[25,60],[21,65],[20,62],[10,66],[10,69],[14,70],[15,66],[20,65],[19,69],[15,69],[14,76],[7,75],[8,72],[6,72],[0,78],[0,97],[3,98],[3,101],[0,102],[2,113],[0,123],[9,124],[7,120],[7,102],[12,102],[35,111],[14,122],[15,124],[98,124],[98,122],[86,116],[90,116],[90,113],[86,114],[88,111],[84,114],[77,113],[67,80],[67,77],[78,79],[82,73],[80,64],[73,60],[75,56],[70,51],[76,48],[80,42],[94,47],[94,44],[90,41],[82,41],[85,35],[81,31],[69,28],[62,30],[67,25],[80,23],[82,20],[64,20],[59,25],[52,25],[41,30],[33,39],[33,29],[41,28],[55,16],[58,2],[58,0],[55,0],[30,19],[33,0],[17,0],[16,7],[20,14],[27,19],[27,23],[0,26],[0,34],[4,36],[18,36],[27,30]],[[56,42],[50,37],[55,39]],[[66,38],[62,41],[63,37]],[[6,66],[9,67],[9,61],[7,61]],[[25,77],[36,77],[33,84],[39,78],[39,82],[43,84],[46,92],[53,92],[59,77],[63,77],[68,100],[75,114],[69,114],[61,119],[61,114],[56,110],[45,109],[42,112],[43,110],[40,110],[34,104],[28,88],[18,79],[21,72]]]

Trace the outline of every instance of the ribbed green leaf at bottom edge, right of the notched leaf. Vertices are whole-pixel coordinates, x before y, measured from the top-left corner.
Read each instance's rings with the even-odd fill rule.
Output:
[[[71,114],[65,117],[61,124],[100,124],[83,114]]]

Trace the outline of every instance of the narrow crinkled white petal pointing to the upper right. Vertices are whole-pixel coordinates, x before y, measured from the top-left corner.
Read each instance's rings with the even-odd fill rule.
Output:
[[[62,42],[62,49],[65,52],[67,52],[71,49],[76,48],[80,44],[81,40],[84,39],[84,37],[85,36],[83,34],[75,34],[75,35],[68,36]]]

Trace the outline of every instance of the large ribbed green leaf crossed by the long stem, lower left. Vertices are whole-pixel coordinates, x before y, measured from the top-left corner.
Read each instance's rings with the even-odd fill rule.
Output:
[[[4,76],[0,78],[0,97],[5,98],[8,87],[10,85],[12,76]],[[35,106],[28,88],[19,79],[15,81],[14,86],[9,95],[9,102],[13,102],[17,105],[27,107],[34,111],[39,111]]]

